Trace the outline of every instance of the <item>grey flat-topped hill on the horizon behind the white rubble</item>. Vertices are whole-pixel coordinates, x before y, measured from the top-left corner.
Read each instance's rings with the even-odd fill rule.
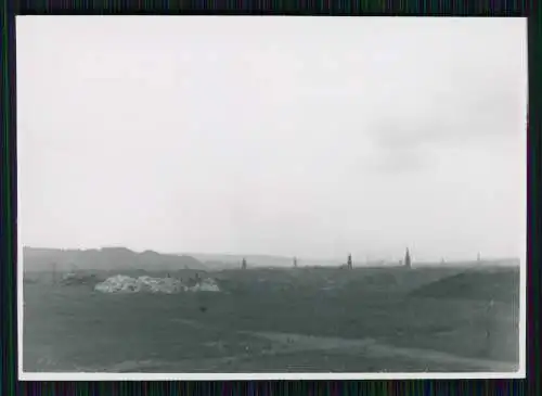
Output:
[[[53,267],[57,271],[206,269],[199,260],[188,255],[159,254],[153,251],[137,253],[126,247],[100,250],[23,248],[24,271],[51,271]]]

